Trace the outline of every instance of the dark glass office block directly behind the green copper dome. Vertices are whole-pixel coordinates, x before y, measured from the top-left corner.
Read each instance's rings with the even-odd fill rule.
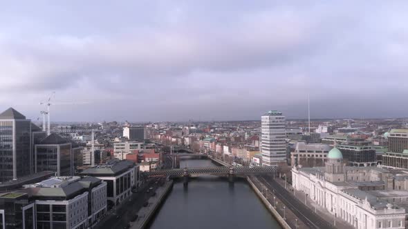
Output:
[[[376,166],[375,148],[368,141],[346,141],[337,146],[349,166]]]

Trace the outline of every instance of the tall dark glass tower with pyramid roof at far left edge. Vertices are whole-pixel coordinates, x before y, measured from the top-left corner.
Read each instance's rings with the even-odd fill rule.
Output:
[[[33,171],[31,121],[13,108],[0,114],[0,181]]]

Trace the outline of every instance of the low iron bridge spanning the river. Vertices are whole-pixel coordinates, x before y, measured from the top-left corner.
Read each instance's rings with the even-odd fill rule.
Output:
[[[184,177],[189,175],[256,175],[261,173],[277,172],[276,166],[237,166],[237,167],[203,167],[203,168],[178,168],[173,170],[154,170],[150,172],[143,172],[147,176],[172,176]]]

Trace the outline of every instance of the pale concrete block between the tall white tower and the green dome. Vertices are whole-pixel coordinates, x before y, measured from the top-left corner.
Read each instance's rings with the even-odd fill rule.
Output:
[[[297,142],[295,150],[290,152],[290,165],[304,167],[324,166],[324,161],[333,147],[322,143]]]

